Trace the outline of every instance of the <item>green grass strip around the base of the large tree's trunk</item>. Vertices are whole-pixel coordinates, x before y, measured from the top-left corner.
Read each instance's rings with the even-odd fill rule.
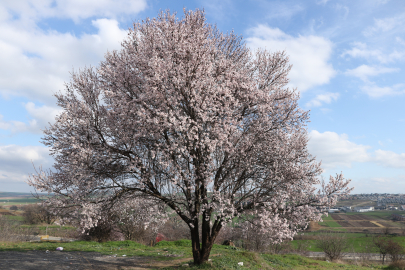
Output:
[[[155,261],[170,261],[179,258],[189,258],[192,263],[191,241],[179,240],[174,242],[162,241],[154,247],[144,246],[132,241],[119,242],[72,242],[72,243],[4,243],[0,242],[1,251],[24,250],[55,250],[62,246],[64,251],[93,251],[105,255],[117,256],[148,256]],[[362,267],[352,264],[332,263],[313,260],[299,255],[272,255],[234,249],[227,246],[214,245],[211,251],[211,262],[187,269],[389,269],[380,264]],[[238,263],[243,262],[243,267]],[[178,269],[169,267],[164,269]]]

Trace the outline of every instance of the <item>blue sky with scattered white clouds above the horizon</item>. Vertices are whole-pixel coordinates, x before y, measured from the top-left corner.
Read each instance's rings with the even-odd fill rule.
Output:
[[[32,191],[32,164],[52,166],[41,129],[60,112],[53,94],[70,72],[119,49],[132,22],[184,7],[204,8],[253,50],[287,52],[325,179],[342,171],[353,193],[405,193],[403,0],[3,0],[0,191]]]

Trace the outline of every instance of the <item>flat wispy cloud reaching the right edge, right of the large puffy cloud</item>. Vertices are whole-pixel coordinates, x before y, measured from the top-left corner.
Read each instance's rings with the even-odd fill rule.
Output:
[[[364,58],[369,61],[377,60],[381,63],[389,63],[397,60],[402,60],[405,57],[404,52],[394,50],[389,54],[385,54],[377,49],[369,49],[366,44],[355,42],[353,48],[343,52],[341,56],[349,55],[353,58]]]

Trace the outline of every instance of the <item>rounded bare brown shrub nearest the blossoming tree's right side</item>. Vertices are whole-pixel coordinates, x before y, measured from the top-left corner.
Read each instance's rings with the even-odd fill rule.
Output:
[[[345,235],[331,233],[320,234],[316,239],[315,245],[325,252],[325,256],[331,261],[341,259],[349,248]]]

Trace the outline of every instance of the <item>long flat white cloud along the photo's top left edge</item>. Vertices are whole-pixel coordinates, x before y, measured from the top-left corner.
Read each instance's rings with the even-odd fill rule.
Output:
[[[21,20],[70,18],[74,21],[93,16],[116,18],[138,13],[147,7],[146,0],[3,0],[2,8],[17,13]],[[0,12],[1,14],[1,12]]]

